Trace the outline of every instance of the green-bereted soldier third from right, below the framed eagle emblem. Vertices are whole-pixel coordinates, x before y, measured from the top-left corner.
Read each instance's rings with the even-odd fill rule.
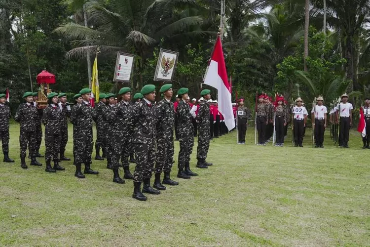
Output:
[[[162,171],[164,172],[163,184],[179,184],[170,178],[174,157],[173,128],[175,124],[174,104],[171,102],[172,84],[164,84],[159,91],[163,94],[163,99],[155,106],[157,113],[157,153],[153,187],[158,190],[166,190],[166,187],[160,181]]]

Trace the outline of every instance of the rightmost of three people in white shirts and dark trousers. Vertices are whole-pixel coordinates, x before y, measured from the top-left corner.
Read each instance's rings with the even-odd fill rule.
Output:
[[[352,109],[351,103],[348,103],[348,95],[344,93],[342,96],[342,103],[336,107],[336,120],[339,122],[339,145],[342,148],[349,148],[349,129],[352,126]]]

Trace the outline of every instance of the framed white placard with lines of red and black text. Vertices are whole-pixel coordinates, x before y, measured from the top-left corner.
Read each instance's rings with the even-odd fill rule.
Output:
[[[117,52],[113,82],[130,82],[134,69],[135,55]]]

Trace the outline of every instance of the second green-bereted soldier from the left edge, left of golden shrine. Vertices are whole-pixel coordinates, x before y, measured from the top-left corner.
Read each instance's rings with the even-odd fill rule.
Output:
[[[36,160],[37,154],[37,137],[36,137],[36,122],[39,120],[37,109],[33,103],[32,92],[25,92],[23,98],[26,103],[20,104],[15,113],[14,120],[20,124],[19,145],[21,167],[27,169],[26,165],[26,150],[29,145],[29,153],[31,155],[31,165],[40,166]]]

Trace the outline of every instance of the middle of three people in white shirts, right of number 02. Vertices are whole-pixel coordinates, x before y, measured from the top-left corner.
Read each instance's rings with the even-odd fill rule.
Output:
[[[311,111],[312,126],[315,126],[315,148],[323,148],[328,109],[323,105],[323,97],[319,96],[316,102],[317,105],[315,105]]]

